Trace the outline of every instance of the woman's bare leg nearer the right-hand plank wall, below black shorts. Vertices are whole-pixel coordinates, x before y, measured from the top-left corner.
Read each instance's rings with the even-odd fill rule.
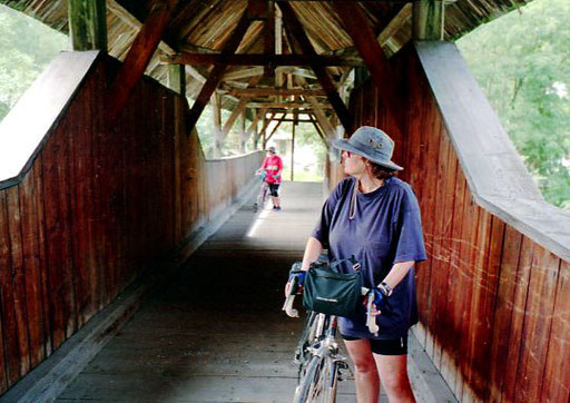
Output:
[[[407,377],[407,355],[374,354],[374,361],[390,403],[415,402]]]

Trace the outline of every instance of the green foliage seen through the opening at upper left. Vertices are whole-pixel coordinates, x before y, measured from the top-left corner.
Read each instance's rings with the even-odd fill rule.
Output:
[[[67,37],[0,6],[0,120],[61,50]]]

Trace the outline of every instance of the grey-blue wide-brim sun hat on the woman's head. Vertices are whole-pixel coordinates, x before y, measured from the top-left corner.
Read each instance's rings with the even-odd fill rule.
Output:
[[[340,150],[357,154],[370,161],[389,169],[402,170],[400,165],[392,161],[394,140],[381,129],[372,126],[362,126],[353,132],[350,139],[337,139],[333,147]]]

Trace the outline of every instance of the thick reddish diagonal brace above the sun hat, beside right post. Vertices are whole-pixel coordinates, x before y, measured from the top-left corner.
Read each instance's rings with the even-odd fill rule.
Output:
[[[372,81],[379,89],[380,98],[392,115],[400,128],[404,131],[404,110],[402,108],[403,100],[396,88],[393,77],[395,77],[389,65],[384,51],[374,36],[372,27],[366,21],[366,17],[360,6],[352,1],[332,2],[338,18],[343,21],[346,32],[351,36],[358,53],[361,55]]]

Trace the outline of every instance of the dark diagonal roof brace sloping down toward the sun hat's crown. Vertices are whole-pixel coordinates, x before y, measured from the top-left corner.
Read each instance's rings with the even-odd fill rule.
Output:
[[[311,45],[311,41],[308,40],[308,37],[305,33],[305,30],[303,29],[303,24],[295,16],[295,11],[291,7],[291,4],[287,2],[279,2],[279,8],[283,13],[283,18],[285,19],[285,22],[287,23],[287,28],[298,41],[301,48],[303,49],[303,53],[312,57],[316,56],[316,51],[313,48],[313,45]],[[352,130],[351,114],[348,112],[348,109],[346,108],[343,100],[338,96],[336,87],[334,86],[331,77],[328,77],[326,69],[317,63],[313,63],[311,65],[311,67],[313,68],[313,71],[315,71],[315,75],[318,78],[321,86],[325,90],[328,101],[333,106],[345,131],[350,132]]]

